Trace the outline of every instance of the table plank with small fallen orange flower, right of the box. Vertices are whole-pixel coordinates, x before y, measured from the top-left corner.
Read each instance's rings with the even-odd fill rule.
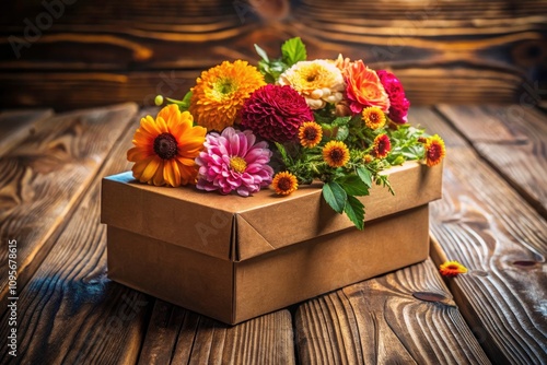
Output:
[[[450,129],[430,113],[421,120]],[[432,257],[469,269],[446,281],[462,315],[493,363],[546,363],[546,221],[468,144],[447,149],[443,189],[431,204]]]

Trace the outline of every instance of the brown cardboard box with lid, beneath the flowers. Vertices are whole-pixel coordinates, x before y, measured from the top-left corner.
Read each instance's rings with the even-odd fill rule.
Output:
[[[358,231],[317,186],[249,198],[103,179],[108,276],[226,323],[424,260],[442,166],[406,163],[373,187]]]

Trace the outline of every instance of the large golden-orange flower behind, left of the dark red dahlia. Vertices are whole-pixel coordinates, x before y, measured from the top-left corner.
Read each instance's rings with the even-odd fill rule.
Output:
[[[246,61],[224,61],[196,80],[189,111],[199,126],[220,132],[233,126],[245,101],[265,84],[263,74]]]

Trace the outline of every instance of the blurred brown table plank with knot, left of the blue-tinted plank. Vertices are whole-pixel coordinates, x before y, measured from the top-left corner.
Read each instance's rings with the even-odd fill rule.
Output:
[[[0,236],[18,240],[18,285],[39,267],[137,106],[124,104],[43,119],[0,157]],[[5,247],[5,246],[2,246]],[[0,272],[8,272],[8,249]],[[1,276],[5,304],[8,278]]]

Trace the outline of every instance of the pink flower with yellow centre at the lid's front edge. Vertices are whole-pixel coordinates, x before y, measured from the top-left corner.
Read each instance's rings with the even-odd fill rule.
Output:
[[[225,128],[221,134],[210,133],[203,143],[205,151],[196,158],[198,164],[197,188],[230,193],[235,190],[248,197],[270,185],[274,169],[268,165],[271,151],[267,142],[255,144],[252,131]]]

